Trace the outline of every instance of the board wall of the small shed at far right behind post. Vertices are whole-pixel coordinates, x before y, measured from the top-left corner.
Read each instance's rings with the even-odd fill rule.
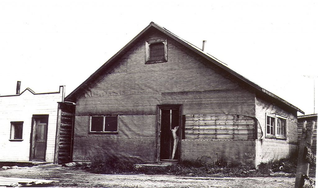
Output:
[[[313,143],[311,145],[311,149],[316,153],[317,152],[317,115],[312,115],[309,117],[302,117],[298,116],[298,129],[297,129],[297,143],[300,142],[301,138],[301,132],[302,132],[302,126],[304,124],[304,121],[307,121],[306,127],[311,127],[312,121],[315,122],[315,129],[314,129],[314,134],[313,134]]]

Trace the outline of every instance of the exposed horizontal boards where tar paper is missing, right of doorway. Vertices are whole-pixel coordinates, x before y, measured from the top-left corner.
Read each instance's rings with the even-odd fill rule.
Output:
[[[245,115],[185,115],[185,139],[255,139],[254,118]]]

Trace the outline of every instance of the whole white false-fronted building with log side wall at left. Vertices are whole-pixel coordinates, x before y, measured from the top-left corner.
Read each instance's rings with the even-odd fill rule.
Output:
[[[72,108],[64,102],[65,86],[20,93],[20,84],[16,94],[0,96],[0,162],[70,161],[73,114],[61,110]]]

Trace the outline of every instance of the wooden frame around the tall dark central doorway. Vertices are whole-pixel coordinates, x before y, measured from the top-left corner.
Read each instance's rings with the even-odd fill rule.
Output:
[[[182,138],[183,138],[183,123],[182,123],[182,104],[158,104],[157,105],[157,121],[156,121],[156,126],[157,126],[157,130],[156,130],[156,145],[157,145],[157,156],[156,156],[156,160],[157,162],[181,162],[182,160]],[[160,134],[160,130],[161,130],[161,110],[162,109],[179,109],[179,143],[178,143],[178,159],[175,160],[161,160],[160,159],[160,141],[161,141],[161,134]]]

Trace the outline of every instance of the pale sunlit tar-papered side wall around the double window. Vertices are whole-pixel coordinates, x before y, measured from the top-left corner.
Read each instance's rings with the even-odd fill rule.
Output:
[[[273,159],[280,159],[294,154],[297,148],[297,111],[283,109],[267,102],[259,97],[256,98],[256,118],[261,125],[263,136],[256,142],[256,164]],[[287,139],[266,138],[266,115],[278,114],[286,117]]]

